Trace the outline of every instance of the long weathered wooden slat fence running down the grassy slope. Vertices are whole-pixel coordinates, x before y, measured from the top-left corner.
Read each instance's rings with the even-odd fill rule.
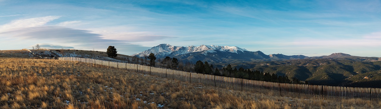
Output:
[[[301,98],[301,99],[324,99],[341,100],[350,98],[361,98],[364,100],[380,101],[381,88],[339,87],[325,85],[287,84],[276,82],[255,81],[234,77],[214,76],[209,74],[190,73],[185,71],[156,68],[131,63],[118,63],[89,58],[59,57],[59,60],[71,60],[98,65],[122,68],[132,72],[149,74],[168,79],[177,79],[186,82],[201,83],[204,85],[227,88],[230,90],[241,90],[248,92],[259,92],[269,95]]]

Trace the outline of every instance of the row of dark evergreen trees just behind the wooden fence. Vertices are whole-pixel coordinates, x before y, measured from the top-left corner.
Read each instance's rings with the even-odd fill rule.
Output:
[[[149,62],[147,62],[149,59]],[[187,72],[195,72],[202,74],[210,74],[216,76],[225,76],[225,77],[235,77],[256,81],[267,81],[267,82],[279,82],[279,83],[290,83],[290,84],[308,84],[308,82],[300,82],[297,78],[290,79],[288,76],[279,76],[278,74],[263,73],[261,71],[251,71],[250,69],[233,68],[230,64],[224,66],[221,69],[214,68],[213,64],[208,62],[202,62],[201,60],[197,61],[195,64],[191,62],[179,62],[177,58],[165,57],[162,59],[157,59],[155,54],[150,53],[149,55],[143,56],[140,59],[136,56],[131,60],[127,59],[128,63],[135,63],[141,65],[149,65],[161,68],[168,68],[174,70],[181,70]]]

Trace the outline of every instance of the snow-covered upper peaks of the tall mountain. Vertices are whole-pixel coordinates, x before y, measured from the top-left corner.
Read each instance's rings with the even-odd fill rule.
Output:
[[[165,55],[181,55],[181,54],[188,54],[191,52],[203,52],[204,55],[207,55],[208,52],[215,52],[215,51],[223,51],[223,52],[232,52],[232,53],[239,53],[243,51],[248,51],[246,49],[242,49],[240,47],[235,46],[215,46],[215,45],[201,45],[201,46],[187,46],[187,47],[179,47],[179,46],[171,46],[170,44],[160,44],[158,46],[152,47],[151,49],[148,49],[147,51],[134,54],[132,56],[138,55],[139,57],[144,57],[145,55],[149,55],[150,53],[154,53],[157,57],[163,57]]]

